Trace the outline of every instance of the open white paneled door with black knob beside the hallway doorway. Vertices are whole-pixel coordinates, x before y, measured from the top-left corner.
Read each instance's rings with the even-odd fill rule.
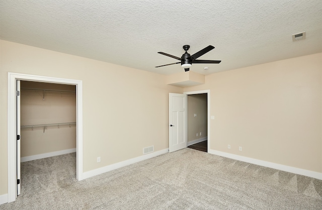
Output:
[[[187,95],[169,93],[169,152],[187,147]]]

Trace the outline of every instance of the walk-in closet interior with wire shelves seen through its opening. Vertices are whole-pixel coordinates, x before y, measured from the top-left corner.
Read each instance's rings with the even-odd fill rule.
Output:
[[[20,81],[17,153],[21,193],[26,196],[58,190],[76,179],[75,85]]]

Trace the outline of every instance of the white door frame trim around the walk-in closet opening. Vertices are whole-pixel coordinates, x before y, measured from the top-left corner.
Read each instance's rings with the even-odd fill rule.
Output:
[[[17,80],[76,86],[76,179],[83,180],[83,81],[8,72],[8,202],[17,197],[16,82]]]

